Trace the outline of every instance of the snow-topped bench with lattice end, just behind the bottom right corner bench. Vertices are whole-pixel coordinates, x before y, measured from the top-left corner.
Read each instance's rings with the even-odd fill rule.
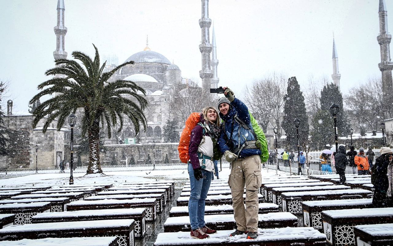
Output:
[[[357,225],[393,223],[393,208],[340,209],[321,212],[326,241],[335,245],[355,245]]]

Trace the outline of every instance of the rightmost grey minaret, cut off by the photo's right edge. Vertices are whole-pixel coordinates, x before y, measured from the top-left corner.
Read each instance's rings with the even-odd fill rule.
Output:
[[[376,37],[381,51],[381,63],[378,64],[379,70],[382,72],[382,91],[383,101],[385,102],[387,117],[392,117],[392,69],[393,62],[390,60],[389,44],[391,35],[387,33],[387,11],[384,0],[379,0],[379,35]]]

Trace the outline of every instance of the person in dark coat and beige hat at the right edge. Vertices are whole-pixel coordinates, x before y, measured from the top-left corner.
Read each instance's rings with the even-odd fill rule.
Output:
[[[390,148],[382,147],[380,150],[380,157],[375,160],[375,167],[373,168],[375,174],[374,181],[374,195],[373,207],[387,207],[389,206],[389,195],[391,196],[391,180],[392,180],[392,159],[393,152]],[[388,189],[390,188],[390,190]],[[389,192],[388,192],[389,191]]]

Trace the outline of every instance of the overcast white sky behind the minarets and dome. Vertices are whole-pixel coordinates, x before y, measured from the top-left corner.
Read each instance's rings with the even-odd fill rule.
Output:
[[[219,85],[239,93],[272,72],[331,80],[332,33],[343,94],[380,76],[378,0],[210,0]],[[198,78],[200,0],[64,0],[65,49],[115,54],[119,63],[149,47]],[[0,0],[0,80],[9,81],[15,111],[27,111],[37,85],[54,66],[57,0]],[[386,0],[393,27],[393,1]],[[392,28],[390,28],[392,29]],[[390,30],[389,31],[392,31]],[[212,28],[210,28],[212,33]],[[393,55],[393,54],[391,54]],[[8,98],[7,98],[8,99]]]

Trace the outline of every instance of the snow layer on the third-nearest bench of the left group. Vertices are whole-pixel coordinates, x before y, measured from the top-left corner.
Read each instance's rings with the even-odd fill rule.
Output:
[[[70,217],[87,217],[87,216],[115,216],[115,215],[141,215],[144,208],[127,208],[127,209],[97,209],[94,213],[90,210],[65,211],[39,213],[33,218],[70,218]]]

